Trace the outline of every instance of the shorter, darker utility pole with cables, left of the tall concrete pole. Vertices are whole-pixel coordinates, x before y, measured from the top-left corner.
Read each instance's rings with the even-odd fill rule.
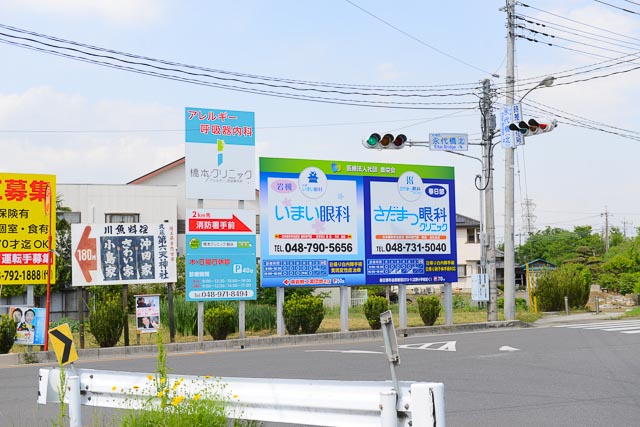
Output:
[[[482,114],[482,180],[484,184],[485,230],[480,239],[486,271],[489,276],[489,304],[487,304],[487,321],[498,321],[498,284],[496,283],[496,226],[494,222],[493,206],[493,146],[492,140],[496,128],[496,116],[491,106],[491,81],[485,79],[482,82],[482,101],[480,104]],[[485,252],[486,251],[486,252]]]

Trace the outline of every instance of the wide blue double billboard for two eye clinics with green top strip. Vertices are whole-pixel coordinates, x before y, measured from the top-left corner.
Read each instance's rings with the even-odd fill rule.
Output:
[[[451,167],[260,159],[263,287],[457,282]]]

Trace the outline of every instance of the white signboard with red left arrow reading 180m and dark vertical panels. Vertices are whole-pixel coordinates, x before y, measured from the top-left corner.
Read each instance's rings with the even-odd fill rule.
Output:
[[[73,286],[173,283],[173,224],[71,224]]]

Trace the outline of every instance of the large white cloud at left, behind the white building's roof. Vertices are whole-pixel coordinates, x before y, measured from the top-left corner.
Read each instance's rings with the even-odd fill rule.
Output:
[[[161,105],[92,102],[48,87],[0,94],[0,170],[124,183],[184,156],[181,119]]]

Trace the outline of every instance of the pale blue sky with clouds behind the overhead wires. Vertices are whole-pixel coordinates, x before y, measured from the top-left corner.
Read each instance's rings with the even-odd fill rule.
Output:
[[[491,78],[496,87],[504,87],[506,15],[499,10],[504,1],[354,3],[395,28],[345,0],[0,0],[0,24],[173,62],[261,76],[447,89],[461,84],[479,86],[482,79]],[[640,15],[592,0],[526,3],[533,7],[518,6],[518,13],[592,35],[577,32],[572,36],[530,25],[585,44],[552,40],[574,49],[567,50],[516,41],[518,80],[531,84],[546,75],[567,76],[571,72],[565,71],[570,69],[578,73],[556,82],[567,84],[538,89],[527,96],[528,101],[565,118],[559,118],[560,126],[552,133],[529,138],[526,146],[517,150],[516,233],[522,229],[521,203],[531,199],[536,206],[536,229],[592,225],[600,231],[604,227],[601,214],[606,209],[610,225],[626,227],[628,234],[635,234],[640,226],[634,177],[639,142],[571,126],[567,117],[576,115],[637,129],[634,119],[640,71],[626,72],[633,63],[592,74],[579,74],[584,70],[579,67],[604,61],[593,56],[596,52],[607,57],[630,52],[629,47],[608,45],[610,50],[623,52],[614,53],[588,46],[594,42],[585,37],[593,37],[595,28],[612,31],[598,32],[599,37],[635,37],[624,40],[631,49],[639,43],[638,49]],[[640,12],[640,6],[632,2],[610,3]],[[521,34],[532,37],[525,30]],[[364,108],[283,99],[124,72],[5,43],[0,43],[0,55],[2,171],[52,173],[59,183],[125,183],[184,155],[184,107],[224,108],[255,112],[260,156],[454,166],[457,211],[479,217],[474,187],[479,162],[422,147],[389,152],[365,150],[361,145],[374,131],[403,132],[414,141],[427,140],[430,132],[461,132],[478,142],[477,109]],[[625,72],[575,82],[616,70]],[[519,95],[529,87],[519,86]],[[495,102],[499,107],[504,96]],[[526,116],[537,115],[527,114],[527,108],[525,105]],[[498,141],[499,137],[494,140]],[[466,154],[479,156],[480,148],[472,146]],[[499,145],[494,165],[500,240],[505,166]]]

